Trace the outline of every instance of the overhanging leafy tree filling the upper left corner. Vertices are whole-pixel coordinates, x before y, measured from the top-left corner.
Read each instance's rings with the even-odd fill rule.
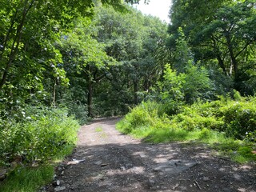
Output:
[[[97,2],[117,10],[126,7],[122,0],[0,1],[0,91],[5,103],[29,102],[31,95],[46,94],[47,104],[55,105],[58,86],[68,84],[56,44],[77,18],[94,14]]]

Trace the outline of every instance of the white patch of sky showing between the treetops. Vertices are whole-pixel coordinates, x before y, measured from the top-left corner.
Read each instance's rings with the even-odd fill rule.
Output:
[[[151,14],[161,18],[162,21],[170,22],[169,10],[171,0],[150,0],[149,5],[145,5],[144,1],[141,0],[139,5],[135,5],[138,10],[142,11],[143,14]]]

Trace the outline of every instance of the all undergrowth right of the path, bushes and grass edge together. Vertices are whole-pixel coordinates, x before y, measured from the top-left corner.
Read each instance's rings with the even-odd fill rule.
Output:
[[[145,142],[196,141],[209,144],[235,162],[256,162],[255,98],[195,102],[167,116],[164,104],[142,102],[117,124],[124,134]]]

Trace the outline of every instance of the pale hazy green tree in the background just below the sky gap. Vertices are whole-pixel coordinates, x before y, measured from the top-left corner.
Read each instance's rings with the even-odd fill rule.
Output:
[[[142,99],[139,93],[148,91],[162,70],[154,55],[160,42],[165,41],[166,25],[158,18],[143,16],[132,9],[126,14],[100,10],[97,21],[98,41],[105,42],[106,53],[120,62],[110,67],[108,79],[116,90],[132,92],[131,103],[136,104]]]

